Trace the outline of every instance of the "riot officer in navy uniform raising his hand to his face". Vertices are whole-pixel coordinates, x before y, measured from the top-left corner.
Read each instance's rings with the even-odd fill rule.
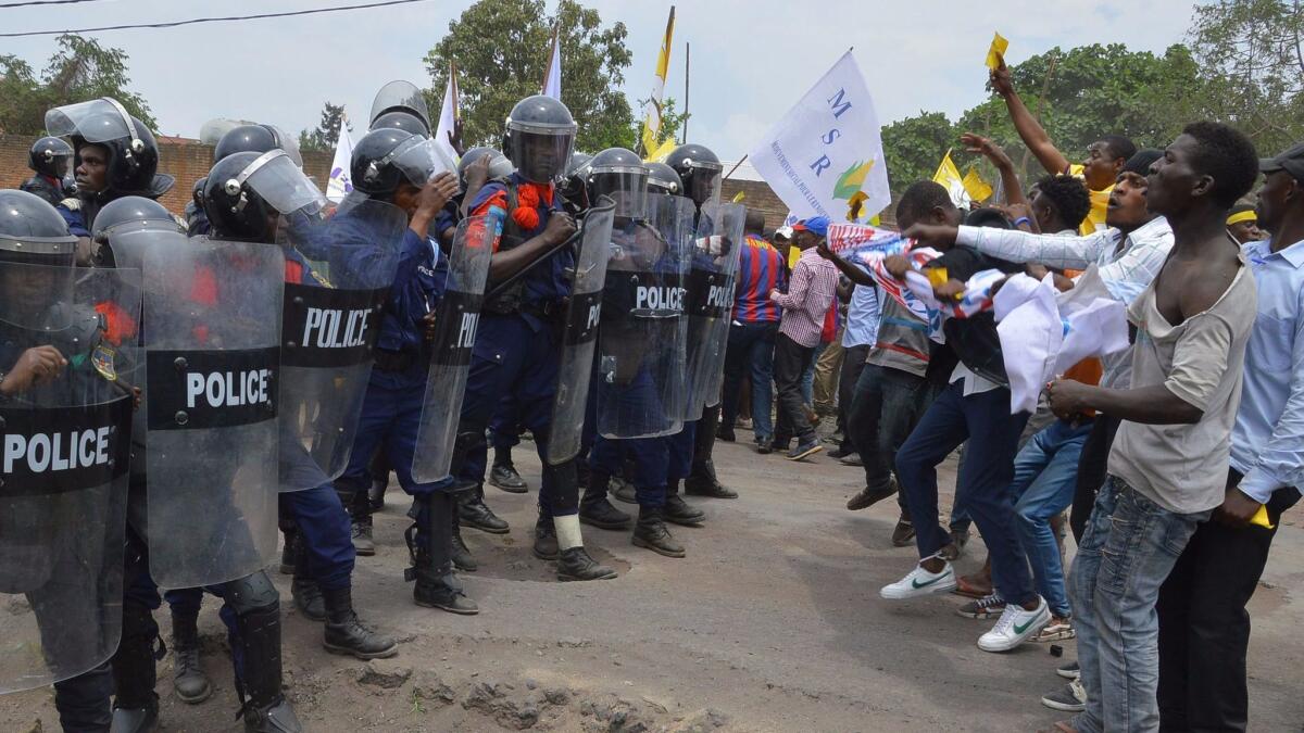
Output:
[[[393,202],[408,214],[398,273],[381,322],[376,365],[363,403],[361,421],[348,467],[335,488],[369,532],[368,463],[381,450],[404,492],[415,497],[416,523],[408,531],[417,605],[450,613],[479,613],[452,573],[451,480],[422,483],[412,476],[417,430],[422,412],[429,365],[429,339],[434,313],[443,293],[446,258],[432,240],[436,218],[458,190],[456,176],[437,171],[433,143],[419,134],[394,128],[369,132],[353,147],[351,171],[353,193]],[[438,175],[436,175],[438,173]],[[348,201],[339,219],[349,217]],[[361,230],[361,228],[360,228]],[[359,240],[368,233],[359,231]]]

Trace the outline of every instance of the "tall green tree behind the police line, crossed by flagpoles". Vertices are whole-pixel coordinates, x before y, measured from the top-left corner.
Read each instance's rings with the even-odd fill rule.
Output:
[[[597,10],[561,0],[545,14],[542,0],[480,0],[449,22],[449,34],[425,55],[432,110],[442,103],[450,61],[458,65],[463,141],[498,146],[503,120],[516,102],[539,94],[559,29],[562,102],[579,123],[576,149],[629,145],[630,103],[621,93],[631,61],[625,23],[604,26]]]

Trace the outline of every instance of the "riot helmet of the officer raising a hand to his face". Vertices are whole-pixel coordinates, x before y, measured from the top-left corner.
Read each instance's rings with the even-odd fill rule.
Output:
[[[349,162],[353,190],[387,200],[404,180],[420,188],[456,164],[434,141],[393,128],[376,129],[357,141]]]

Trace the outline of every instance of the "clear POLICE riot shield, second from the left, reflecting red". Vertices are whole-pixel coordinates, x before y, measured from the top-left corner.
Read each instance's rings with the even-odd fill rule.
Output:
[[[146,533],[166,588],[275,554],[284,273],[273,244],[192,237],[145,254]]]

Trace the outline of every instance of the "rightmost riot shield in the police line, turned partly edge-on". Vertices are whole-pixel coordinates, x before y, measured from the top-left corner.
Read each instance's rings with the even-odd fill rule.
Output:
[[[700,419],[704,407],[720,403],[746,215],[747,209],[741,203],[704,203],[698,217],[685,288],[689,383],[685,421]]]

